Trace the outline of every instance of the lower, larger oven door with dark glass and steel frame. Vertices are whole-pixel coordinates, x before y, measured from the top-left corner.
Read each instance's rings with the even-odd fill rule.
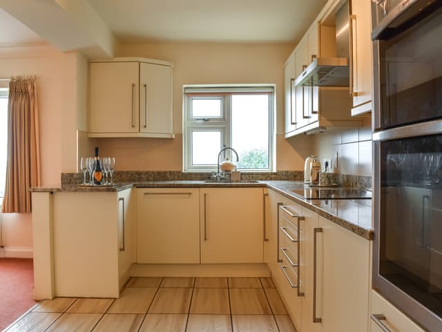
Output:
[[[442,331],[442,120],[373,136],[373,288]]]

